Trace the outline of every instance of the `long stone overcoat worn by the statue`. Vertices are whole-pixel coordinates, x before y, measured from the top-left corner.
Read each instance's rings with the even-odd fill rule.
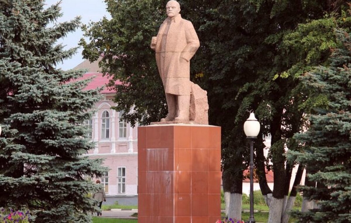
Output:
[[[166,93],[190,95],[190,59],[199,46],[193,24],[180,14],[161,24],[154,50]]]

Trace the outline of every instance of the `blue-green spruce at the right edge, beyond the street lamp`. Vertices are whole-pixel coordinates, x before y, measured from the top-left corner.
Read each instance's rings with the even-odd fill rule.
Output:
[[[338,47],[333,50],[329,66],[318,66],[302,79],[315,94],[327,96],[327,109],[316,107],[309,117],[310,128],[296,138],[304,152],[292,153],[308,165],[311,181],[317,187],[302,188],[304,196],[317,201],[318,208],[296,212],[300,222],[351,221],[351,38],[337,30]]]

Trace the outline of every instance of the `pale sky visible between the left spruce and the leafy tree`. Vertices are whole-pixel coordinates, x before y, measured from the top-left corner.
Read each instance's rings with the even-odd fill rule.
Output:
[[[58,0],[46,0],[47,5],[53,5]],[[106,16],[111,18],[110,14],[106,11],[106,5],[103,0],[62,0],[60,4],[62,8],[62,17],[58,19],[58,22],[64,22],[72,20],[76,16],[81,16],[82,24],[88,24],[90,21],[99,21],[102,17]],[[66,48],[72,48],[78,46],[80,38],[83,37],[81,29],[77,29],[74,33],[68,33],[67,37],[60,39],[58,43],[66,45]],[[80,48],[71,59],[67,59],[63,64],[58,64],[58,68],[63,70],[69,70],[82,61],[82,49]]]

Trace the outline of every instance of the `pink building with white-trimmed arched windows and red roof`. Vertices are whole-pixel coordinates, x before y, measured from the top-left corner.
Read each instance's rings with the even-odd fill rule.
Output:
[[[106,76],[98,70],[98,61],[84,61],[73,70],[88,69],[79,79],[92,78],[85,90],[104,87],[108,83]],[[118,83],[116,83],[118,84]],[[104,87],[102,98],[94,105],[92,119],[84,125],[88,138],[95,143],[95,148],[88,151],[89,158],[103,158],[104,166],[110,170],[100,178],[107,196],[135,196],[138,194],[138,131],[137,126],[121,118],[124,111],[111,109],[115,91]]]

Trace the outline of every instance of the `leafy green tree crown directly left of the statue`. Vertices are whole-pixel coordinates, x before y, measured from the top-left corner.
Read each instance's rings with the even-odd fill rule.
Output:
[[[157,34],[164,18],[164,4],[155,0],[105,0],[112,19],[101,19],[83,26],[90,42],[81,39],[84,58],[100,62],[102,72],[119,79],[122,84],[112,87],[117,91],[116,110],[130,111],[124,117],[142,124],[160,120],[166,115],[163,85],[159,78],[151,37]],[[147,111],[147,113],[146,113]]]

